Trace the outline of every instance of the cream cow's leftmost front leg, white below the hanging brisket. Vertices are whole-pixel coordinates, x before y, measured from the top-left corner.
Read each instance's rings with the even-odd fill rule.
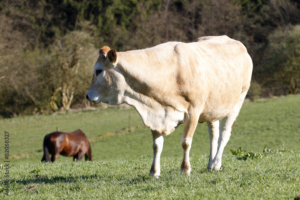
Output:
[[[164,145],[164,134],[151,130],[153,137],[153,162],[150,169],[150,175],[158,178],[161,175],[161,151]]]

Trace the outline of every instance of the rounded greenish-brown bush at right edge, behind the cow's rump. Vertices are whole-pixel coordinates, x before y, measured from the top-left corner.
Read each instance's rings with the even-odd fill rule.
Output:
[[[269,41],[262,67],[266,85],[286,86],[290,94],[296,94],[300,85],[300,25],[278,28]]]

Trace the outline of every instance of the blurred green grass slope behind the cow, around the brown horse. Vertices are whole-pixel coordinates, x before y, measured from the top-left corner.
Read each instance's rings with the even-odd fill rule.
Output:
[[[242,147],[247,151],[267,148],[299,149],[300,96],[245,102],[236,119],[236,125],[225,147]],[[131,132],[128,132],[131,112]],[[10,133],[10,160],[18,163],[36,163],[43,156],[44,136],[59,127],[61,131],[81,129],[91,142],[93,160],[129,159],[134,156],[152,156],[152,134],[134,109],[98,109],[68,112],[57,115],[22,116],[0,120],[2,132]],[[183,125],[165,136],[162,157],[182,156],[180,137]],[[1,136],[4,139],[4,135]],[[3,148],[0,143],[0,148]],[[193,136],[191,154],[209,154],[207,125],[198,124]],[[72,158],[58,156],[61,161]]]

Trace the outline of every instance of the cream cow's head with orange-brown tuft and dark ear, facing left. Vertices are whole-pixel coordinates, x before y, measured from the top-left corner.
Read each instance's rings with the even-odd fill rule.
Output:
[[[122,75],[115,70],[117,65],[117,51],[103,46],[99,51],[99,58],[94,67],[94,74],[86,98],[90,102],[119,104],[118,94],[122,90],[120,79]]]

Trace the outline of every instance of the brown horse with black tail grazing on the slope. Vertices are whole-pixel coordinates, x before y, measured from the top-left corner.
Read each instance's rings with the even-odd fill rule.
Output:
[[[41,161],[54,162],[61,154],[73,156],[73,161],[80,161],[85,155],[85,160],[92,161],[91,146],[87,137],[81,130],[72,133],[53,132],[44,138],[44,156]]]

